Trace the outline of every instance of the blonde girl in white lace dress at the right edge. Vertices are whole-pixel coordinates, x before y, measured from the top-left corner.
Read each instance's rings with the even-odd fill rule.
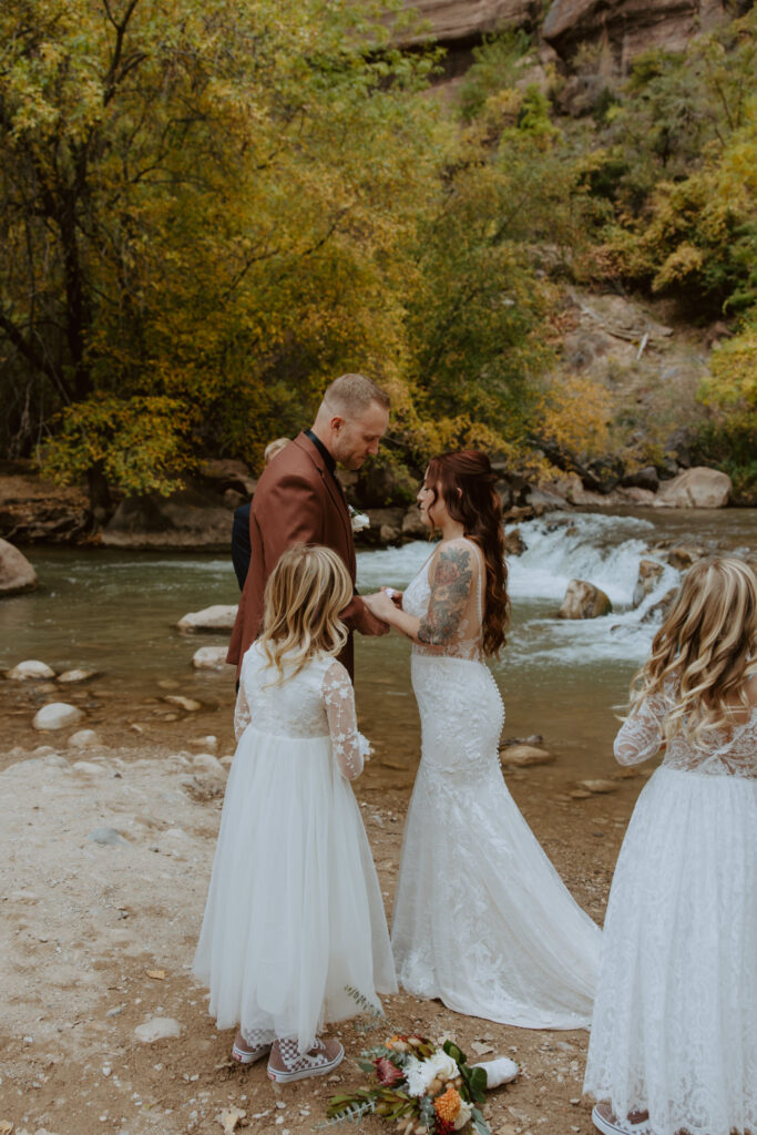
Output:
[[[605,1133],[757,1133],[757,581],[697,563],[615,740],[663,753],[609,894],[584,1091]]]

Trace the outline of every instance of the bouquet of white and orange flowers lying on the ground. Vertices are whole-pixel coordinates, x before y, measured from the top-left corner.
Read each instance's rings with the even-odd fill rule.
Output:
[[[436,1045],[415,1034],[387,1037],[384,1044],[363,1052],[358,1063],[376,1084],[333,1096],[329,1119],[354,1123],[365,1115],[382,1116],[396,1121],[397,1135],[452,1135],[468,1124],[479,1135],[490,1135],[478,1104],[483,1102],[487,1087],[518,1074],[512,1060],[469,1065],[453,1041]]]

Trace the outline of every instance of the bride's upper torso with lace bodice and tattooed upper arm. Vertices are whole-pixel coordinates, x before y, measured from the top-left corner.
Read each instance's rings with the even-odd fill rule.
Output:
[[[413,653],[483,659],[483,564],[478,545],[462,536],[439,544],[405,588],[402,608],[420,619]]]

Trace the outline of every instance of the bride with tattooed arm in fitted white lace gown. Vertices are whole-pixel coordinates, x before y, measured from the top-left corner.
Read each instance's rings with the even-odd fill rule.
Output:
[[[435,457],[418,494],[441,540],[404,596],[365,602],[413,641],[422,755],[405,825],[392,944],[397,976],[457,1012],[588,1027],[600,932],[521,816],[498,759],[504,707],[485,656],[508,615],[489,459]]]

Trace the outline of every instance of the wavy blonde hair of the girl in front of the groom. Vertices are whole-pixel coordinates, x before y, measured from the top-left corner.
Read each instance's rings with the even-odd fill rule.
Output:
[[[352,598],[340,557],[320,545],[295,544],[271,572],[258,641],[277,672],[272,686],[298,674],[317,653],[337,655],[347,641],[339,612]]]

